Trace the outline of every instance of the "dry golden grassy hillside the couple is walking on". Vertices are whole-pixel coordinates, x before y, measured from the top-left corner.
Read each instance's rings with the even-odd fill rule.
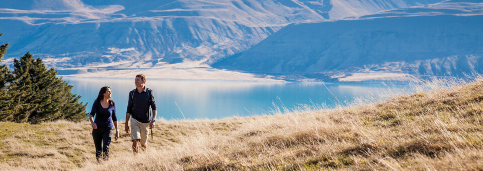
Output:
[[[333,110],[158,121],[97,164],[89,122],[0,122],[0,168],[79,170],[483,169],[483,81]],[[121,124],[123,125],[123,123]]]

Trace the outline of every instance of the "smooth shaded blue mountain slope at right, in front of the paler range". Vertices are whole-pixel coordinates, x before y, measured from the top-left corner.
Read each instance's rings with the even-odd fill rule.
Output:
[[[481,73],[482,21],[483,1],[447,1],[353,19],[292,24],[213,66],[332,78],[358,72]]]

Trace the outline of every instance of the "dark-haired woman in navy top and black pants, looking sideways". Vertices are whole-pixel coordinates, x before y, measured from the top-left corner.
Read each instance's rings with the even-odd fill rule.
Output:
[[[97,99],[92,104],[89,120],[92,126],[92,137],[96,146],[96,159],[109,159],[109,144],[111,144],[114,127],[116,127],[115,140],[119,138],[117,127],[116,105],[111,99],[111,88],[102,87]],[[97,115],[97,116],[96,116]],[[96,119],[94,120],[94,116]]]

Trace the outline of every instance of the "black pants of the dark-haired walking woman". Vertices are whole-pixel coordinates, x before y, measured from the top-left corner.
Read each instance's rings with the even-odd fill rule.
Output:
[[[92,129],[92,138],[94,139],[94,146],[96,146],[96,159],[109,159],[109,145],[114,134],[114,128],[97,128]]]

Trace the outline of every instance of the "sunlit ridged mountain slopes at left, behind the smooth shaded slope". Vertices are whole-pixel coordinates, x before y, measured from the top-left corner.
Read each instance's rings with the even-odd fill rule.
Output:
[[[7,58],[31,51],[56,68],[156,68],[215,62],[300,21],[360,16],[440,0],[3,1]],[[4,60],[4,62],[11,62]]]

